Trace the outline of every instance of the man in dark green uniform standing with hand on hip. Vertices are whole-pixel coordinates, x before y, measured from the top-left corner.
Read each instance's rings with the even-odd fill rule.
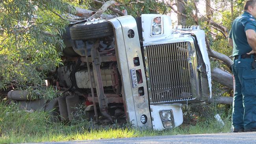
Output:
[[[234,132],[256,131],[256,0],[247,0],[244,13],[237,17],[228,42],[233,47],[235,78],[232,123]],[[256,66],[256,64],[255,64]]]

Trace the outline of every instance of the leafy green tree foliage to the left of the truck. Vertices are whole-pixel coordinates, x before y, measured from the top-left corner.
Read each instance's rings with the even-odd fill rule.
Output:
[[[53,90],[44,80],[62,65],[61,35],[68,22],[52,11],[67,9],[62,0],[1,0],[0,89],[30,89],[35,98],[35,91]]]

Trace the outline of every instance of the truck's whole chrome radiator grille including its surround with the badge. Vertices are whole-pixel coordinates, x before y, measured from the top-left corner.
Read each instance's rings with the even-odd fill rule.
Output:
[[[192,37],[182,42],[145,46],[150,104],[200,100],[197,55]],[[190,72],[190,66],[192,72]],[[191,74],[194,74],[192,76]]]

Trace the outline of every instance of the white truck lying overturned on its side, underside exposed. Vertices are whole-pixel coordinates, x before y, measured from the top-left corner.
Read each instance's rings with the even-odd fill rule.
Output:
[[[183,122],[182,104],[211,96],[204,31],[172,28],[166,15],[100,18],[70,24],[63,63],[48,82],[63,96],[61,120],[86,105],[94,120],[171,129]],[[70,110],[71,109],[71,110]]]

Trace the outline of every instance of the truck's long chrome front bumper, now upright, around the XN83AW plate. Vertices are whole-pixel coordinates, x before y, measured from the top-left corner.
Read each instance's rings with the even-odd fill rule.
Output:
[[[124,16],[109,20],[115,34],[115,52],[117,55],[118,70],[122,81],[122,98],[128,121],[134,126],[152,128],[151,116],[148,103],[147,80],[143,66],[143,58],[139,43],[136,21],[132,16]],[[134,37],[128,37],[128,31],[134,31]],[[134,65],[134,57],[139,57],[140,65]],[[132,87],[130,75],[131,69],[141,70],[142,83],[138,87]],[[144,96],[139,96],[139,88],[144,88]],[[145,114],[148,118],[146,124],[141,123],[141,116]]]

